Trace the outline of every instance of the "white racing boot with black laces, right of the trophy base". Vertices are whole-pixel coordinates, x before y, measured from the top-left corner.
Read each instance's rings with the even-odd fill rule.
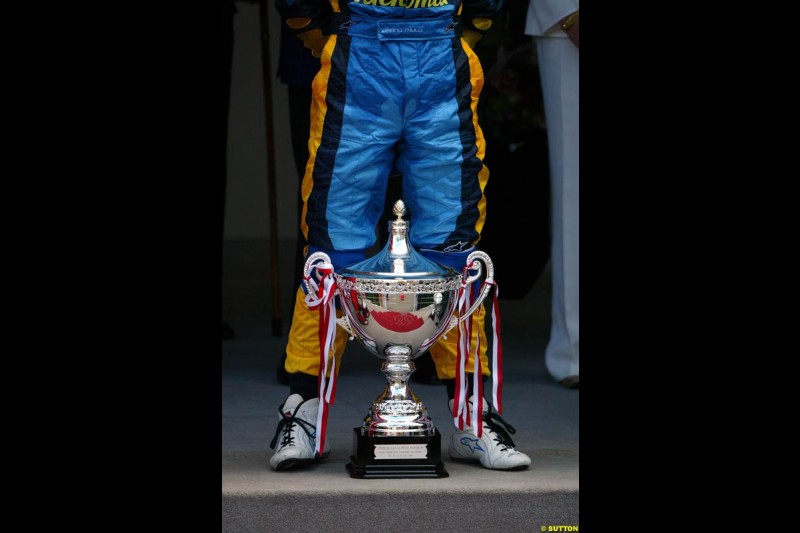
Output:
[[[469,399],[470,404],[472,398]],[[453,400],[450,400],[450,412],[453,411]],[[524,470],[531,464],[531,458],[514,448],[514,441],[509,433],[516,430],[503,420],[499,414],[489,411],[488,402],[483,402],[483,433],[481,438],[475,436],[472,427],[464,426],[463,431],[456,429],[450,439],[448,453],[454,461],[481,463],[492,470]]]

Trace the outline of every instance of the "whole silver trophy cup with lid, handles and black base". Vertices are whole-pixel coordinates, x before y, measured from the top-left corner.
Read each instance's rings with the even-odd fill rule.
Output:
[[[408,240],[405,211],[398,200],[397,219],[389,222],[389,242],[380,253],[333,273],[344,309],[336,323],[384,360],[381,371],[388,382],[361,427],[353,430],[347,469],[356,478],[449,476],[441,460],[441,434],[409,387],[412,360],[482,305],[494,278],[491,259],[483,252],[468,256],[463,274],[419,254]],[[485,283],[475,300],[459,310],[460,296],[482,276],[481,264]],[[323,265],[331,268],[325,253],[310,255],[305,279]]]

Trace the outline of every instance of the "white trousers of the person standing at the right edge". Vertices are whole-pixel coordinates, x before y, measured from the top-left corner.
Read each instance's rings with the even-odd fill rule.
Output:
[[[578,48],[569,39],[537,37],[550,157],[552,322],[545,351],[560,381],[579,375]]]

